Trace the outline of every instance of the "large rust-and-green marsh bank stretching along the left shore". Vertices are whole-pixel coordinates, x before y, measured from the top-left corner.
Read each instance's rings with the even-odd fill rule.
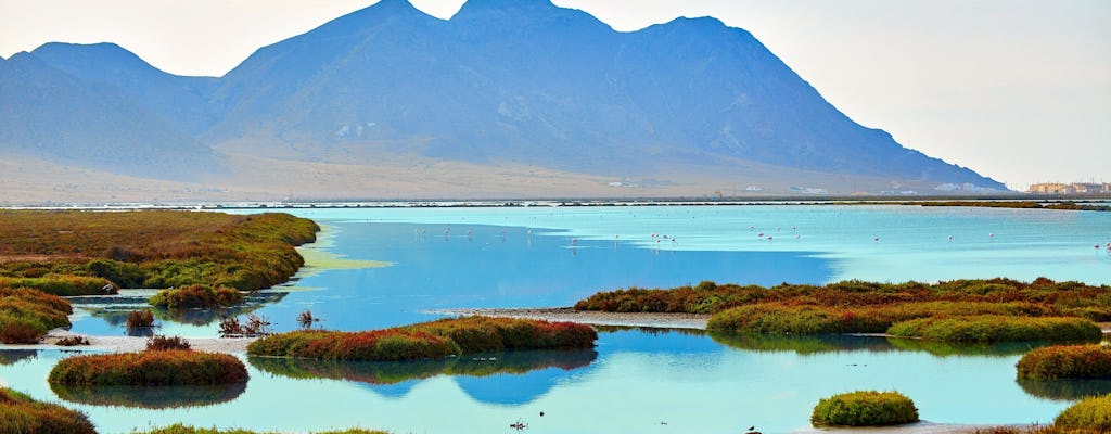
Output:
[[[316,240],[289,214],[0,210],[0,342],[37,343],[69,325],[59,296],[167,289],[157,305],[226,306],[283,283]]]

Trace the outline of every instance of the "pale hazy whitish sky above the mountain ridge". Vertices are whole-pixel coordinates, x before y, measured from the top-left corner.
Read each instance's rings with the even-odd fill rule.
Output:
[[[538,1],[538,0],[519,0]],[[178,74],[374,0],[0,0],[0,55],[116,42]],[[715,17],[752,32],[833,105],[1011,188],[1111,182],[1111,0],[554,0],[633,31]],[[412,0],[450,18],[462,0]]]

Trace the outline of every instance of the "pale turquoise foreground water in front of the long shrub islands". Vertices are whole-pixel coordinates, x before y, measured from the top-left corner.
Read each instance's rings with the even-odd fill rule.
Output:
[[[614,329],[599,334],[597,353],[520,352],[412,364],[254,360],[249,387],[214,405],[67,405],[89,414],[103,433],[179,422],[261,432],[499,432],[522,418],[533,434],[727,433],[753,424],[762,432],[794,432],[809,428],[818,400],[859,388],[898,390],[937,423],[1045,422],[1068,405],[1023,392],[1014,380],[1017,355],[940,357],[857,343],[804,353],[768,350],[790,347],[780,343],[752,346],[758,349],[730,347],[692,331]],[[0,365],[0,382],[57,401],[62,392],[46,379],[64,355],[42,350]],[[540,411],[547,414],[540,417]]]

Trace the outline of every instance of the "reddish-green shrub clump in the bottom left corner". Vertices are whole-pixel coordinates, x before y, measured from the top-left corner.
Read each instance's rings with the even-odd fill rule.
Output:
[[[41,403],[26,394],[0,387],[0,433],[96,434],[97,431],[80,412]]]

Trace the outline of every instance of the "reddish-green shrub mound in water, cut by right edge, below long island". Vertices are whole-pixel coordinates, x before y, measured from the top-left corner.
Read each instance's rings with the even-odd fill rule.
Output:
[[[1015,364],[1019,379],[1111,379],[1111,349],[1099,345],[1042,346]]]

